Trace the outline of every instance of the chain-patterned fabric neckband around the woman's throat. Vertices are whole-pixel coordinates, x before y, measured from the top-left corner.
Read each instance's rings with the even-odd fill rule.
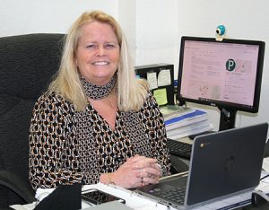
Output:
[[[84,88],[84,91],[88,97],[93,100],[101,100],[108,97],[109,93],[112,92],[116,84],[116,76],[113,76],[112,79],[105,85],[96,85],[92,84],[81,75],[81,81]]]

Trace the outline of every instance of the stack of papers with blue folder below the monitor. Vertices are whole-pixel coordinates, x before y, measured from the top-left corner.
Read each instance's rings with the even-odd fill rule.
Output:
[[[171,139],[213,130],[207,112],[201,109],[165,106],[161,108],[161,113],[163,114],[167,137]]]

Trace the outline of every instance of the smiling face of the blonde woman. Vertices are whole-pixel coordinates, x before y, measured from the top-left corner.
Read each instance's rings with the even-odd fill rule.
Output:
[[[82,26],[74,59],[88,82],[104,85],[117,71],[119,51],[112,27],[108,23],[91,22]]]

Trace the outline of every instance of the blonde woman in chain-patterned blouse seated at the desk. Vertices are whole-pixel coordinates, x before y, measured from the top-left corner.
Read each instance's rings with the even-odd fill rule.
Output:
[[[136,188],[169,174],[163,118],[136,79],[126,39],[106,13],[82,13],[65,37],[56,78],[30,121],[32,188],[116,184]]]

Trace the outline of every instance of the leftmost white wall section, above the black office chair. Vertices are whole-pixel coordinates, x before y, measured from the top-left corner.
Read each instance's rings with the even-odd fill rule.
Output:
[[[117,16],[116,3],[113,0],[0,0],[0,36],[65,32],[86,10],[102,9]]]

